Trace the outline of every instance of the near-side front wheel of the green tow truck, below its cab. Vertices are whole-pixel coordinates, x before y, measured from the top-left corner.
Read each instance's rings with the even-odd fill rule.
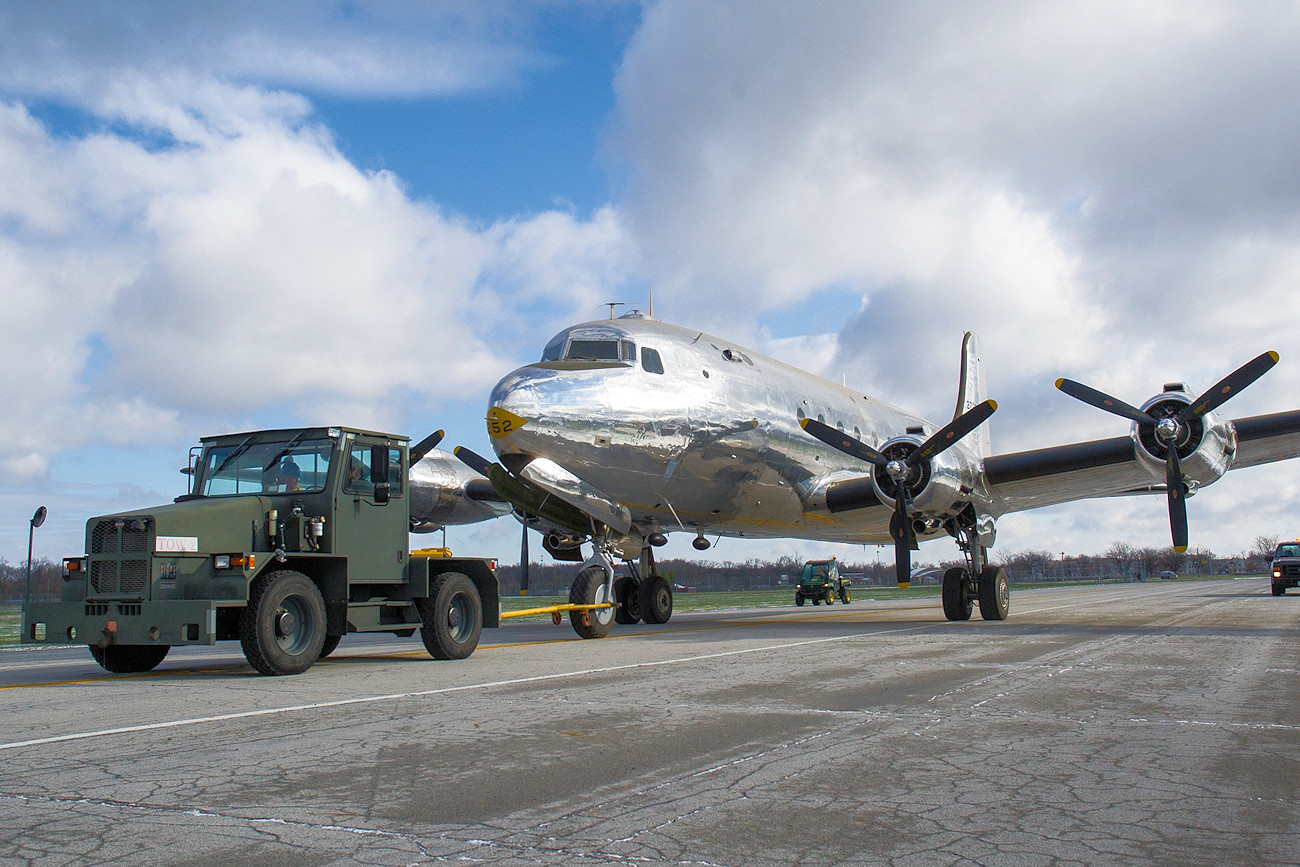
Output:
[[[300,675],[325,646],[325,599],[300,572],[269,572],[248,593],[239,615],[239,643],[263,675]]]

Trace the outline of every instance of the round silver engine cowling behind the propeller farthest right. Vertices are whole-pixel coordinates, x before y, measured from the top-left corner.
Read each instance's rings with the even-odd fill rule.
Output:
[[[1182,382],[1171,382],[1165,391],[1141,404],[1141,411],[1153,419],[1169,419],[1196,396]],[[1166,446],[1156,437],[1152,424],[1134,424],[1134,454],[1143,468],[1161,484],[1165,481]],[[1236,455],[1236,430],[1214,412],[1191,419],[1178,438],[1178,459],[1183,471],[1183,484],[1195,494],[1201,485],[1217,481],[1232,465]]]

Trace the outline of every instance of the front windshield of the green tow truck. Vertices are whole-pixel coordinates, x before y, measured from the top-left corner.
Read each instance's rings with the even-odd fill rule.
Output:
[[[308,439],[306,432],[276,442],[214,443],[204,448],[196,490],[203,497],[321,491],[333,451],[330,439]]]

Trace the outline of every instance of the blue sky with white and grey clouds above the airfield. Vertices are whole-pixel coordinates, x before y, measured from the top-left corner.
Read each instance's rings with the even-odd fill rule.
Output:
[[[486,452],[491,385],[650,287],[659,318],[935,419],[974,329],[996,451],[1124,432],[1060,376],[1140,403],[1277,348],[1228,415],[1294,408],[1297,18],[0,4],[0,556],[25,556],[39,504],[58,558],[87,517],[170,500],[208,433],[446,428]],[[1191,502],[1193,545],[1295,536],[1297,500],[1290,463],[1230,473]],[[1000,523],[1008,550],[1166,534],[1156,499]],[[517,528],[448,541],[514,559]]]

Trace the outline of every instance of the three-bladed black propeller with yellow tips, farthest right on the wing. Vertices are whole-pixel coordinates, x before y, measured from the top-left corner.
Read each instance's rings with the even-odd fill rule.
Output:
[[[1228,398],[1242,391],[1261,376],[1269,372],[1278,363],[1278,354],[1264,352],[1226,377],[1216,382],[1201,396],[1196,398],[1180,409],[1173,411],[1165,404],[1158,415],[1152,415],[1119,398],[1088,387],[1074,380],[1057,380],[1057,389],[1065,391],[1076,400],[1097,407],[1121,419],[1127,419],[1139,425],[1150,425],[1156,442],[1165,448],[1165,489],[1169,500],[1169,530],[1174,541],[1174,550],[1182,554],[1187,550],[1187,498],[1183,487],[1182,455],[1178,450],[1192,439],[1192,428],[1201,416],[1223,406]],[[1153,409],[1156,407],[1152,407]],[[1197,437],[1199,439],[1199,437]]]

